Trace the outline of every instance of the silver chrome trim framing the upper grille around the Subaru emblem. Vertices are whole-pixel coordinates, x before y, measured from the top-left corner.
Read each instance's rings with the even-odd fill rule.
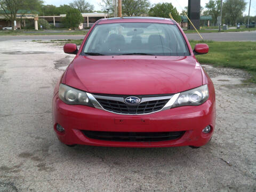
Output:
[[[101,110],[105,110],[108,111],[110,113],[114,113],[114,114],[119,114],[119,115],[147,115],[147,114],[152,114],[152,113],[157,113],[159,111],[162,110],[166,110],[166,109],[170,109],[171,106],[173,105],[173,103],[177,100],[177,98],[179,97],[180,93],[176,93],[173,95],[167,95],[167,96],[156,96],[156,97],[142,97],[141,98],[141,102],[147,102],[147,101],[155,101],[155,100],[164,100],[164,99],[170,99],[165,106],[157,111],[153,111],[150,113],[143,113],[143,114],[124,114],[124,113],[116,113],[114,111],[110,111],[107,110],[105,108],[103,108],[100,103],[97,101],[97,99],[105,99],[105,100],[113,100],[113,101],[119,101],[119,102],[124,102],[124,97],[111,97],[111,96],[103,96],[103,95],[96,95],[96,94],[91,94],[91,93],[87,93],[90,101],[92,102],[93,106],[97,109],[101,109]],[[125,103],[126,104],[126,103]]]

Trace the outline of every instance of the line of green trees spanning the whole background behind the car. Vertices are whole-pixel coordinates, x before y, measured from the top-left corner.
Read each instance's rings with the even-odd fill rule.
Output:
[[[201,7],[201,15],[211,15],[212,24],[217,25],[220,15],[221,0],[210,0],[205,7]],[[97,12],[109,12],[113,15],[115,7],[113,0],[101,0],[101,10]],[[246,8],[245,0],[224,0],[222,6],[222,23],[235,25],[245,20],[243,12]],[[0,0],[0,12],[6,15],[6,19],[14,22],[17,13],[37,13],[39,15],[68,14],[72,19],[78,17],[82,21],[81,13],[94,12],[94,6],[85,0],[74,0],[68,5],[44,5],[42,0]],[[181,21],[180,15],[187,12],[187,7],[181,13],[171,3],[158,3],[151,5],[149,0],[122,0],[122,13],[127,16],[148,15],[151,17],[169,18],[169,13],[177,21]],[[254,19],[254,18],[253,18]],[[255,19],[254,19],[255,20]],[[66,21],[67,22],[67,21]],[[71,22],[71,21],[70,21]],[[70,24],[69,24],[70,25]]]

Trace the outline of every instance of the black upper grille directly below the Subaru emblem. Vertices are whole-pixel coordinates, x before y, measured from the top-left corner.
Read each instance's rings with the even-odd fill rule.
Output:
[[[170,99],[146,101],[139,103],[138,105],[127,105],[124,102],[97,99],[100,105],[108,111],[119,114],[148,114],[158,110],[161,110]]]

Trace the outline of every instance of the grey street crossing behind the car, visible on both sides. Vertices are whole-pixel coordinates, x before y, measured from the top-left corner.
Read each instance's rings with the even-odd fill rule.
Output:
[[[202,40],[197,33],[186,34],[188,39]],[[202,33],[204,40],[212,41],[256,41],[256,30],[243,32],[221,32],[221,33]],[[1,41],[8,40],[49,40],[49,39],[83,39],[84,35],[19,35],[19,36],[0,36]]]

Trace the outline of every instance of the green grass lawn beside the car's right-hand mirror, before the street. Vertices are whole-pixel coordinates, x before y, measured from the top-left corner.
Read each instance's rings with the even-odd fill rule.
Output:
[[[215,67],[245,69],[252,74],[249,81],[256,83],[255,42],[190,41],[191,47],[194,48],[196,43],[209,45],[209,53],[196,56],[200,63],[211,64]]]

